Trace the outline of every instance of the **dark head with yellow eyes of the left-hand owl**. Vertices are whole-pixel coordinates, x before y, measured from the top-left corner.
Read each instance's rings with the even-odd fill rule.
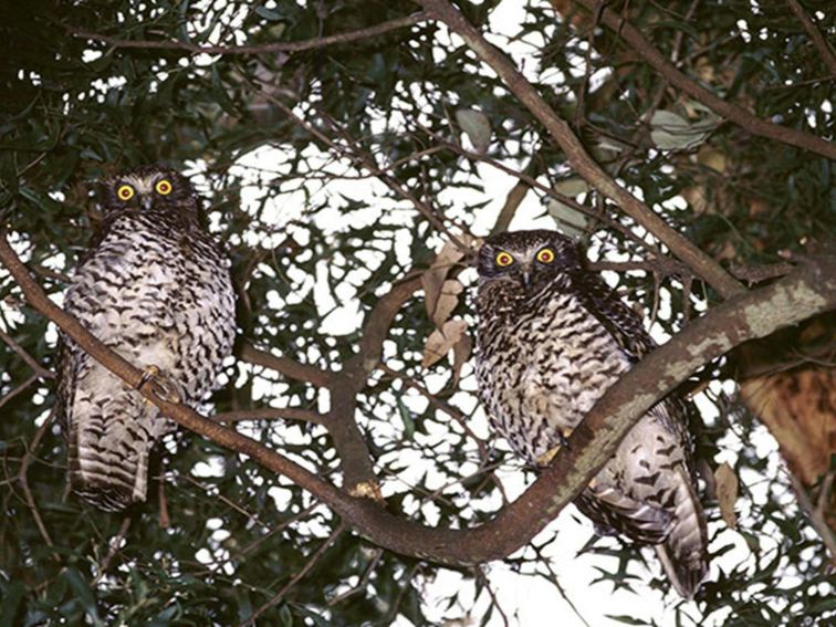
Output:
[[[179,219],[198,216],[189,179],[163,166],[143,166],[108,177],[101,184],[100,197],[107,213],[134,210]]]

